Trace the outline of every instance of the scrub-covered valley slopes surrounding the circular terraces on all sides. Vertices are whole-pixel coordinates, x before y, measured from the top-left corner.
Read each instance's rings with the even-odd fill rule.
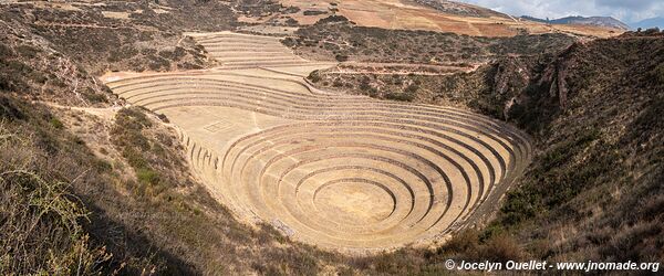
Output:
[[[340,62],[309,75],[315,87],[454,106],[533,138],[532,163],[490,220],[444,244],[347,255],[238,221],[193,173],[176,121],[101,79],[219,66],[184,34],[268,30],[259,19],[291,30],[279,14],[315,15],[284,3],[307,1],[103,2],[0,6],[2,274],[432,275],[448,258],[664,261],[662,33],[386,30],[338,17],[353,1],[301,20],[283,44]]]

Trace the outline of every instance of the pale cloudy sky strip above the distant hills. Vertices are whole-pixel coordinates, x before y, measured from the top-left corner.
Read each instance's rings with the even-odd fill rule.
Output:
[[[664,0],[458,0],[511,15],[613,17],[625,23],[664,17]]]

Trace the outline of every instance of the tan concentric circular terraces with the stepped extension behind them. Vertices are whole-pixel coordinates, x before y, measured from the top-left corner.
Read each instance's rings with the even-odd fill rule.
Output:
[[[323,248],[427,244],[488,215],[529,138],[463,109],[330,93],[278,38],[190,33],[219,67],[113,73],[107,85],[178,129],[195,172],[240,220]]]

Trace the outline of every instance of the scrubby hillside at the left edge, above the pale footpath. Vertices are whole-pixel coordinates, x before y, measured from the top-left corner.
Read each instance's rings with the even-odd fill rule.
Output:
[[[35,100],[104,105],[111,91],[42,38],[0,18],[0,89]]]

